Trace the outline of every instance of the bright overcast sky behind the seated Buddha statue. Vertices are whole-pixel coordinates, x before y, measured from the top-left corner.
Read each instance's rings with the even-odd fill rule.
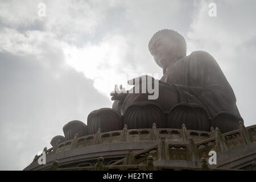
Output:
[[[217,17],[208,15],[210,2]],[[254,0],[0,0],[0,169],[23,169],[65,123],[111,107],[110,91],[128,75],[161,77],[147,45],[163,28],[184,36],[187,55],[203,50],[217,60],[245,125],[254,125],[255,7]]]

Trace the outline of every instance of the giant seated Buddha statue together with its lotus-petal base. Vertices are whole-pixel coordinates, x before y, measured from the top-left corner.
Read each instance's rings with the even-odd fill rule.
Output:
[[[153,123],[171,129],[181,129],[184,123],[187,129],[200,131],[218,127],[221,133],[238,129],[242,118],[236,97],[209,53],[195,51],[187,56],[185,39],[173,30],[156,32],[148,48],[156,64],[163,68],[159,97],[148,100],[149,93],[112,92],[112,108],[92,111],[87,126],[80,121],[69,122],[64,126],[65,138],[75,133],[93,134],[99,128],[101,132],[122,130],[125,124],[128,129],[148,129]]]

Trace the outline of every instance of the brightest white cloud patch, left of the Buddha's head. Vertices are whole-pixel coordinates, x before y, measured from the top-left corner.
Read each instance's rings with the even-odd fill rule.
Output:
[[[65,60],[85,77],[94,80],[95,88],[109,96],[114,84],[122,73],[133,72],[133,67],[126,64],[127,43],[123,36],[105,36],[97,44],[88,43],[82,48],[67,46],[64,48]]]

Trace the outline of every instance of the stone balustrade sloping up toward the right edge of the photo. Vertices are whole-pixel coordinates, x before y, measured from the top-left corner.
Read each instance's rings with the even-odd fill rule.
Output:
[[[147,164],[148,156],[153,160],[187,160],[199,162],[201,158],[206,158],[209,151],[216,151],[217,154],[232,150],[238,146],[249,144],[255,141],[256,125],[244,127],[240,123],[240,129],[221,134],[216,128],[214,137],[194,142],[193,138],[183,142],[171,142],[161,137],[159,144],[146,148],[133,154],[131,149],[127,151],[127,156],[110,166]]]

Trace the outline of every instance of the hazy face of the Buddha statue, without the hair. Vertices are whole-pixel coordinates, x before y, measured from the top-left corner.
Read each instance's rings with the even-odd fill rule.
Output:
[[[152,44],[152,55],[161,68],[177,61],[175,45],[168,39],[158,38]]]

